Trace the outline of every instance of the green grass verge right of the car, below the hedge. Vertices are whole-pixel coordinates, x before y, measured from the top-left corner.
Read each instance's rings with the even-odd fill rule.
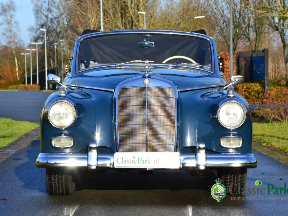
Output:
[[[253,122],[253,140],[288,153],[288,122]]]

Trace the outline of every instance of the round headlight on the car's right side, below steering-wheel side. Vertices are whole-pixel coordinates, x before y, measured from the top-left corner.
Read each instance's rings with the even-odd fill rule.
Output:
[[[246,118],[246,112],[240,103],[228,101],[219,107],[217,116],[221,125],[233,129],[243,124]]]

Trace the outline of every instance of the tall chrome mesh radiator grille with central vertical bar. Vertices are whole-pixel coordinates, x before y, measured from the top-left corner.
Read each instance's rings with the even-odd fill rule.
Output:
[[[120,152],[174,152],[172,88],[122,88],[118,95]]]

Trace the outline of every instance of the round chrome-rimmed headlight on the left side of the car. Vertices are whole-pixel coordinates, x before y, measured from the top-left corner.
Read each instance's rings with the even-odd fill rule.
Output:
[[[76,110],[67,101],[57,101],[49,107],[48,119],[56,128],[69,127],[76,118]]]

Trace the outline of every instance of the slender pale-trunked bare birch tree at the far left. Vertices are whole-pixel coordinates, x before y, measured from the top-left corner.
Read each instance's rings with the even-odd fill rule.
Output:
[[[3,21],[2,25],[5,26],[3,35],[6,38],[9,38],[8,40],[11,40],[12,43],[12,52],[15,59],[15,66],[16,66],[16,76],[19,80],[19,74],[18,74],[18,61],[17,56],[15,52],[15,38],[16,38],[16,29],[19,29],[18,23],[14,20],[14,14],[15,14],[16,6],[12,0],[5,3],[0,3],[0,16],[2,16]],[[9,32],[9,33],[8,33]]]

